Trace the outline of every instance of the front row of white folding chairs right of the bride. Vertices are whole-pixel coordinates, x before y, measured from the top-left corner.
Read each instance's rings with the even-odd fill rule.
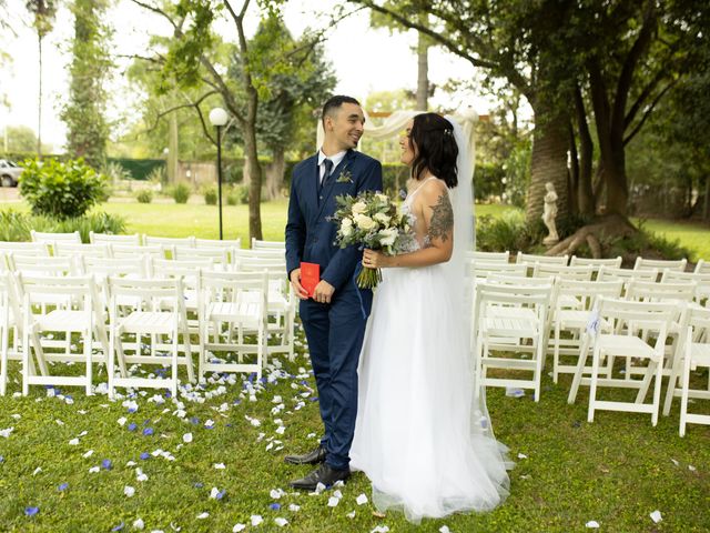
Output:
[[[639,392],[635,403],[641,404],[651,379],[660,375],[671,380],[663,410],[663,413],[668,414],[673,395],[681,394],[676,384],[683,378],[682,338],[687,328],[692,325],[696,314],[710,312],[709,308],[704,308],[697,300],[697,284],[684,280],[657,283],[638,280],[585,281],[491,275],[488,280],[478,280],[475,288],[473,330],[476,338],[473,342],[476,349],[477,383],[480,386],[532,389],[536,401],[539,400],[545,358],[551,352],[555,382],[560,373],[574,374],[570,402],[576,398],[579,384],[584,383],[590,385],[594,391],[592,400],[598,386],[637,388]],[[604,316],[602,301],[613,301],[618,314],[622,314],[623,310],[629,314],[623,320],[616,315]],[[707,295],[702,303],[709,303]],[[658,325],[658,321],[652,316],[647,316],[646,324],[639,314],[642,311],[662,311],[666,321],[662,331],[650,326]],[[602,336],[605,340],[601,342],[607,342],[607,345],[604,345],[602,355],[597,358],[605,359],[604,354],[612,353],[616,348],[619,348],[620,353],[613,352],[615,355],[606,360],[607,381],[600,381],[595,378],[598,376],[599,370],[595,371],[594,364],[587,365],[587,359],[589,351],[597,346],[589,332],[605,328],[612,328],[617,336]],[[643,348],[649,335],[657,342],[653,356],[649,355],[650,349]],[[708,342],[707,332],[704,335],[703,339]],[[693,339],[698,339],[698,334]],[[694,350],[700,349],[696,346]],[[626,358],[621,379],[612,375],[615,356]],[[633,358],[637,356],[641,358],[645,365],[635,364]],[[568,364],[565,364],[566,360],[569,360]],[[710,363],[710,360],[708,362]],[[489,370],[497,374],[489,375]],[[523,379],[519,372],[511,374],[510,371],[526,371],[531,376]],[[661,380],[657,379],[650,406],[638,408],[640,412],[651,413],[653,424],[658,416],[660,386]],[[590,419],[594,418],[596,409],[627,406],[595,401],[591,401],[590,405]],[[687,409],[687,403],[683,409]]]

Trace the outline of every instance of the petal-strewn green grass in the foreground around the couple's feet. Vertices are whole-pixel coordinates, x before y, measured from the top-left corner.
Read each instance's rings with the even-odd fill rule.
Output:
[[[303,339],[301,331],[298,335]],[[369,532],[378,525],[392,532],[438,532],[444,525],[457,533],[571,532],[586,531],[591,520],[602,531],[710,529],[710,428],[690,425],[680,439],[677,402],[672,415],[661,418],[657,428],[649,415],[613,412],[599,412],[588,424],[585,388],[582,400],[566,403],[568,376],[559,384],[545,376],[539,403],[529,393],[515,399],[489,390],[496,435],[510,447],[517,464],[510,473],[510,496],[488,514],[425,520],[418,527],[395,512],[377,517],[371,503],[355,502],[359,494],[371,494],[362,473],[341,489],[343,497],[335,507],[327,505],[333,491],[293,492],[288,480],[308,467],[286,465],[283,456],[310,449],[322,431],[317,402],[312,401],[314,380],[300,344],[295,363],[284,362],[283,374],[272,368],[265,374],[271,373],[270,379],[256,384],[255,401],[245,392],[251,385],[244,376],[235,376],[232,385],[224,379],[211,380],[193,395],[204,403],[180,398],[182,418],[180,405],[170,399],[151,401],[154,392],[134,398],[135,412],[104,395],[85,396],[81,389],[61,391],[73,396],[71,404],[67,396],[48,396],[41,386],[32,388],[28,398],[14,398],[19,364],[12,362],[9,394],[0,398],[0,430],[14,428],[9,438],[0,438],[0,530],[109,532],[124,524],[123,531],[135,531],[132,524],[139,517],[148,531],[165,532],[176,527],[226,532],[237,523],[248,524],[246,531],[282,531],[275,517],[286,519],[283,531],[293,532]],[[105,380],[103,369],[98,370],[94,383]],[[205,426],[210,419],[213,429]],[[261,425],[252,425],[251,419]],[[275,431],[280,419],[283,435]],[[131,423],[136,424],[134,431]],[[149,428],[153,434],[144,435]],[[185,433],[192,433],[191,443],[183,442]],[[71,445],[75,438],[79,445]],[[93,454],[85,456],[90,450]],[[159,450],[174,461],[153,456]],[[151,455],[142,460],[142,453]],[[104,460],[111,461],[111,470],[89,472]],[[225,467],[215,469],[219,463]],[[146,481],[136,480],[136,467]],[[126,485],[135,489],[133,497],[124,495]],[[212,487],[226,494],[211,499]],[[285,495],[276,499],[271,493],[278,489]],[[272,509],[275,503],[281,509]],[[291,504],[300,510],[290,510]],[[27,507],[40,511],[27,516]],[[656,510],[663,516],[659,524],[649,517]],[[355,516],[349,519],[352,511]],[[199,519],[204,512],[209,517]],[[252,515],[263,516],[264,523],[252,527]]]

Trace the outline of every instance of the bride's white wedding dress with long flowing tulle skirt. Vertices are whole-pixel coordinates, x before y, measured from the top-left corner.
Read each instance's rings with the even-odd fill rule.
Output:
[[[422,225],[415,221],[415,249]],[[372,481],[379,511],[402,510],[412,522],[489,511],[508,494],[506,449],[485,395],[473,403],[464,288],[449,269],[383,269],[361,353],[351,465]]]

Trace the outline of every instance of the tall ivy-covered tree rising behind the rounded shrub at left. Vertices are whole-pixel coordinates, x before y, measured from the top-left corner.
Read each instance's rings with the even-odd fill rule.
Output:
[[[106,0],[74,0],[74,39],[72,42],[69,101],[61,118],[67,123],[67,149],[93,168],[105,160],[109,124],[104,113],[104,89],[112,68],[106,41],[110,30],[101,16]]]

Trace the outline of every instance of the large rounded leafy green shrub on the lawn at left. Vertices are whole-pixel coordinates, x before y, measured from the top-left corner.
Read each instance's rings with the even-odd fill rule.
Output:
[[[55,219],[81,217],[108,198],[105,177],[97,173],[82,159],[60,162],[26,160],[20,177],[20,194],[32,213]]]

